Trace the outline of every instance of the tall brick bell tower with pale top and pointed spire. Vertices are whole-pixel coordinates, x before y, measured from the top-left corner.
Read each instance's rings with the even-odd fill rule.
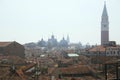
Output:
[[[109,42],[109,20],[106,3],[104,3],[104,9],[101,17],[101,45],[104,45],[107,42]]]

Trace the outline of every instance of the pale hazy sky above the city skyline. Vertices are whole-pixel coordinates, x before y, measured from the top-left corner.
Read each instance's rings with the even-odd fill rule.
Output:
[[[0,41],[100,44],[105,0],[0,0]],[[120,0],[106,0],[109,38],[120,44]]]

